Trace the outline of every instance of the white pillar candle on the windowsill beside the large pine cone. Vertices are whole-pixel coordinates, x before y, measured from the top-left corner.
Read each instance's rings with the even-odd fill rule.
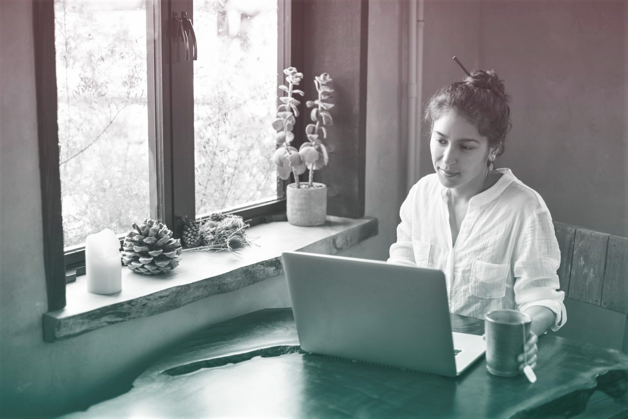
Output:
[[[114,232],[105,228],[90,234],[85,241],[85,276],[87,291],[112,294],[122,289],[120,242]]]

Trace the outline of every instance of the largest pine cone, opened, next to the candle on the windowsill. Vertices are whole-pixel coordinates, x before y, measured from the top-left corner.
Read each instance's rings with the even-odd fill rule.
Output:
[[[122,244],[122,263],[131,271],[152,275],[168,272],[181,260],[181,241],[171,238],[168,227],[156,220],[144,218],[127,233]]]

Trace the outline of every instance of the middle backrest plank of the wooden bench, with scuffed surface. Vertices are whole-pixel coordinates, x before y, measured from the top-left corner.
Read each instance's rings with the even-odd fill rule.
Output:
[[[609,235],[578,228],[573,245],[568,297],[602,304],[602,284]]]

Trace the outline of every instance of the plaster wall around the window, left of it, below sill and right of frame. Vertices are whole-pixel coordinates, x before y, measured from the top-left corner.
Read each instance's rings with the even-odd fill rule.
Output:
[[[365,213],[380,233],[343,253],[386,259],[401,203],[401,9],[371,1]],[[32,4],[0,1],[0,416],[58,415],[130,388],[190,333],[261,308],[290,306],[279,276],[178,310],[43,342],[46,311],[36,130]],[[19,33],[19,39],[14,35]]]

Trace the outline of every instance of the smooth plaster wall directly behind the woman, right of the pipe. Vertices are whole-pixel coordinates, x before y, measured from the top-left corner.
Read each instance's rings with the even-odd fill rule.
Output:
[[[555,221],[628,236],[628,3],[425,3],[423,103],[472,69],[512,96],[497,167],[535,189]],[[422,127],[420,174],[433,172]]]

